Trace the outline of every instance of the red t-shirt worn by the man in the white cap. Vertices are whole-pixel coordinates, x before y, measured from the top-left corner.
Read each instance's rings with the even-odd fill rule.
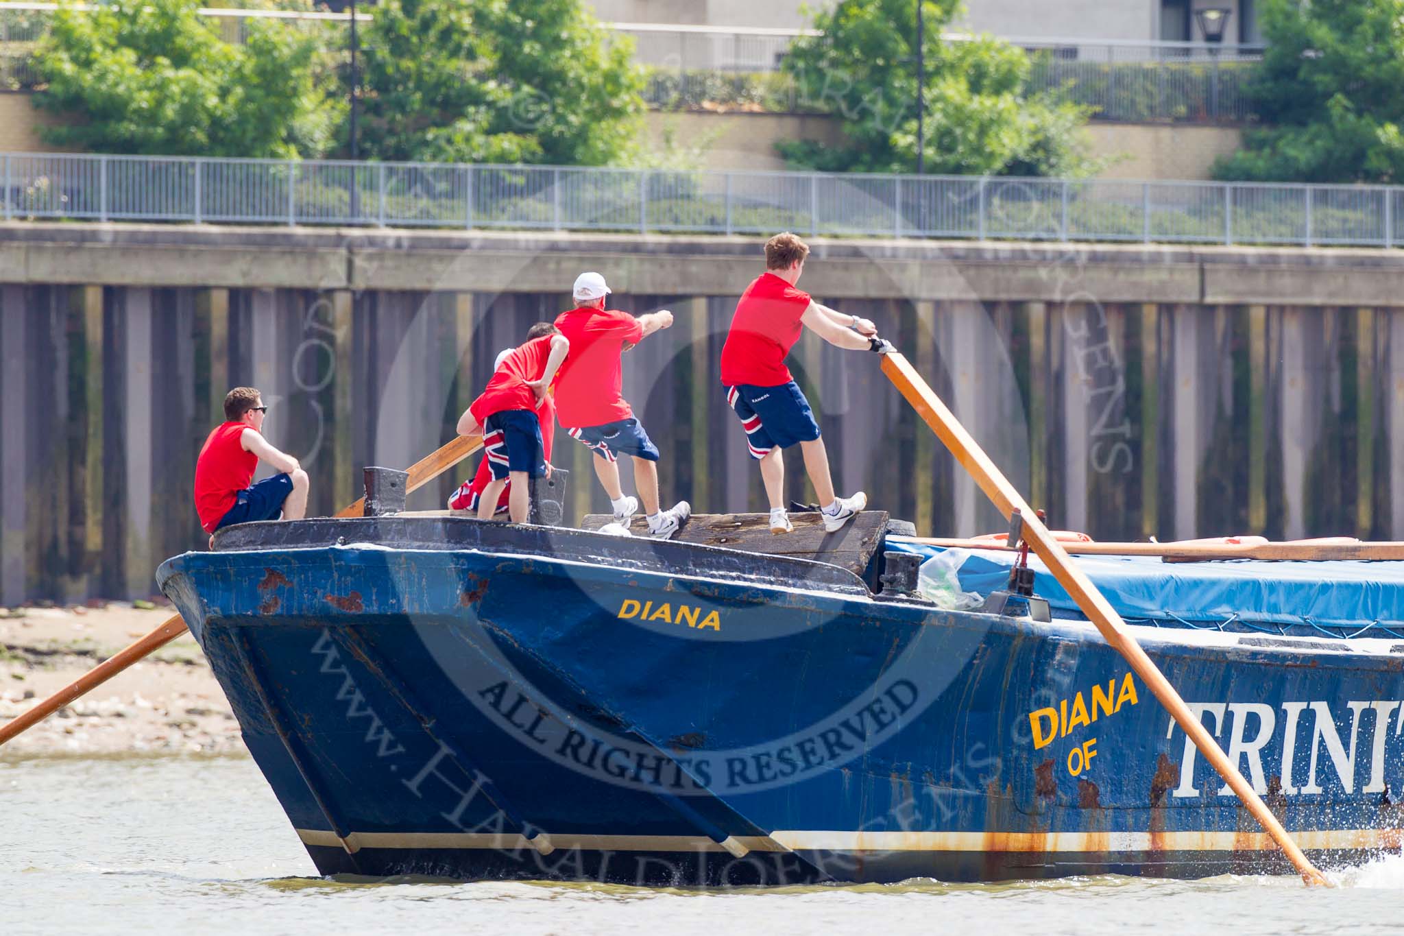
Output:
[[[567,429],[628,420],[633,410],[623,399],[625,342],[637,344],[643,326],[626,312],[571,309],[556,317],[570,340],[570,356],[556,377],[556,411]]]

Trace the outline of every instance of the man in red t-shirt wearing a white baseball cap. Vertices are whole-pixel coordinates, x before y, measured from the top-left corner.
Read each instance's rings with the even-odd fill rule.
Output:
[[[580,274],[571,297],[576,307],[556,317],[556,327],[570,338],[570,361],[556,382],[556,415],[573,439],[595,453],[595,477],[614,507],[615,519],[628,526],[639,501],[619,487],[619,455],[633,457],[633,481],[649,519],[649,536],[668,539],[692,512],[687,501],[658,509],[658,449],[633,417],[623,399],[623,363],[619,358],[649,335],[673,324],[667,309],[635,319],[605,309],[609,286],[595,272]]]

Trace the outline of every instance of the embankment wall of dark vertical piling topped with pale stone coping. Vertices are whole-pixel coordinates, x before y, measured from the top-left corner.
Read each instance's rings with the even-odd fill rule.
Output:
[[[251,383],[313,509],[451,438],[583,269],[677,324],[626,355],[665,500],[760,509],[717,356],[758,237],[0,225],[0,602],[139,596],[204,544],[195,455]],[[1029,500],[1099,539],[1404,539],[1404,254],[817,240],[802,286],[872,317]],[[924,532],[1002,522],[872,355],[793,355],[840,487]],[[577,515],[604,507],[556,435]],[[455,479],[463,472],[455,473]],[[445,477],[411,498],[442,504]],[[797,456],[790,494],[807,498]]]

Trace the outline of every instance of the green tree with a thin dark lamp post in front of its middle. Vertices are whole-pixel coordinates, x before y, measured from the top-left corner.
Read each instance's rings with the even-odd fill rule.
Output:
[[[842,121],[845,143],[783,142],[792,163],[833,171],[917,168],[918,0],[840,0],[785,60],[806,104]],[[925,170],[1080,175],[1095,168],[1078,129],[1090,108],[1028,91],[1029,56],[994,36],[943,41],[958,0],[922,0]]]

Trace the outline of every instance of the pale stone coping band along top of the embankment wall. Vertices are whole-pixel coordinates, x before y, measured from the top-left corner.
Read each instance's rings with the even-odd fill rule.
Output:
[[[762,236],[0,223],[0,282],[733,295]],[[810,239],[803,286],[844,299],[1404,305],[1404,251],[1056,241]]]

